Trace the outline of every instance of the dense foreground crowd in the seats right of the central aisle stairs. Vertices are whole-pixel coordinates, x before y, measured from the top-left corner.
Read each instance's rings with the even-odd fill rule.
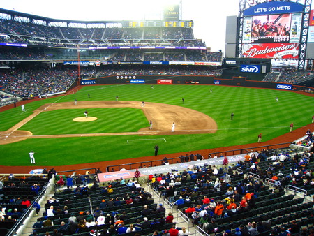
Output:
[[[222,154],[219,156],[223,157]],[[209,157],[217,158],[217,156]],[[202,156],[186,154],[186,156],[178,158],[184,163],[200,160]],[[149,175],[149,183],[172,204],[182,209],[194,225],[200,226],[210,234],[218,231],[223,219],[228,218],[234,221],[236,219],[234,217],[257,209],[257,198],[263,191],[269,189],[267,181],[275,183],[274,189],[269,189],[269,193],[267,193],[270,194],[269,198],[271,199],[282,196],[284,188],[288,184],[299,188],[313,189],[313,161],[313,145],[309,151],[303,153],[292,150],[263,149],[258,152],[257,156],[254,153],[246,154],[244,161],[239,161],[234,166],[218,168],[215,165],[194,165],[194,168],[182,172]],[[248,172],[253,174],[244,175]],[[256,179],[253,175],[258,175],[259,178]],[[177,194],[175,195],[174,192]],[[310,210],[308,214],[313,216],[313,209],[312,211],[311,207],[308,209]],[[292,226],[280,226],[279,228],[276,225],[272,227],[270,219],[258,223],[251,221],[247,227],[241,221],[239,222],[234,233],[242,232],[246,228],[248,235],[266,231],[274,233],[271,235],[280,235],[281,227],[285,228],[285,231],[291,230],[290,227],[293,228],[293,223],[297,221],[292,221]],[[255,234],[251,231],[254,231]],[[300,231],[301,227],[299,226],[297,233]],[[232,235],[231,228],[225,231],[225,235]]]

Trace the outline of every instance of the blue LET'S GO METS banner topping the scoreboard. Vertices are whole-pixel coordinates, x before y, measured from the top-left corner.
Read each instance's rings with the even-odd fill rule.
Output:
[[[304,5],[291,1],[270,1],[257,4],[244,10],[244,15],[270,15],[284,13],[301,13]]]

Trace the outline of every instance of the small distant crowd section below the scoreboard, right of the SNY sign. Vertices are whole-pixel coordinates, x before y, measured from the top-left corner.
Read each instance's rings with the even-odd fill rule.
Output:
[[[314,75],[310,70],[298,71],[296,68],[272,68],[263,81],[299,84],[311,78],[314,78]]]

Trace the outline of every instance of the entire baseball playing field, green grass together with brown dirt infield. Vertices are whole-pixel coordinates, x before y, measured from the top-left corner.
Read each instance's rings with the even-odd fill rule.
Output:
[[[262,141],[283,135],[292,122],[306,126],[314,115],[311,96],[200,84],[86,86],[25,108],[0,113],[1,165],[31,165],[31,151],[34,166],[59,166],[154,156],[156,144],[160,155],[244,145],[259,133]]]

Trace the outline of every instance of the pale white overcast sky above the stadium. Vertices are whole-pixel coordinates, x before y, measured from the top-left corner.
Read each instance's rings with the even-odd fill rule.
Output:
[[[179,0],[0,0],[0,8],[63,20],[160,20],[163,6]],[[239,0],[182,0],[182,20],[212,51],[225,51],[225,22],[238,15]]]

